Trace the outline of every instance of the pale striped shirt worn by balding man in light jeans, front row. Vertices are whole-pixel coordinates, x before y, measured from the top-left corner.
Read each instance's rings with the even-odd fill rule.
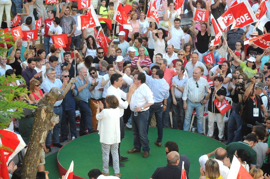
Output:
[[[209,84],[205,78],[200,77],[198,81],[194,78],[189,78],[185,84],[182,99],[187,99],[193,103],[199,103],[205,96],[206,88],[209,88]]]

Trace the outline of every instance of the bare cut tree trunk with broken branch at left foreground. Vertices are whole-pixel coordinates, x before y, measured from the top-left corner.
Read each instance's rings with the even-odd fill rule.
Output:
[[[59,122],[59,116],[53,113],[53,105],[56,101],[64,98],[75,81],[77,81],[77,79],[71,79],[62,94],[58,88],[52,88],[49,93],[39,101],[38,108],[35,112],[32,135],[23,160],[21,178],[36,178],[38,164],[41,159],[41,150],[43,150],[43,146],[45,145],[47,134],[49,130],[53,129],[55,124]]]

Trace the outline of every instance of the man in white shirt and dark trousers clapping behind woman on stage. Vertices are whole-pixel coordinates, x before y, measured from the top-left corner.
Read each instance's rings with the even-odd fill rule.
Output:
[[[131,96],[133,95],[133,93],[137,89],[137,85],[132,84],[129,87],[128,93],[125,93],[120,89],[122,87],[122,83],[123,83],[122,75],[114,73],[111,76],[110,81],[111,81],[112,85],[107,90],[107,96],[108,95],[115,95],[119,101],[120,140],[122,141],[122,139],[125,137],[124,120],[123,120],[124,109],[128,108],[128,104],[130,103]],[[118,147],[119,161],[126,161],[126,160],[128,160],[128,157],[123,157],[122,155],[120,155],[120,144],[121,144],[121,142],[119,143],[119,147]],[[109,165],[113,166],[113,158],[112,158],[111,154],[110,154]],[[125,166],[125,164],[119,163],[119,166]]]

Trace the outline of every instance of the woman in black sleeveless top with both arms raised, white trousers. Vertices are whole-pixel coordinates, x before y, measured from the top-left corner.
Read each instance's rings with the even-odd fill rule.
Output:
[[[190,31],[192,31],[197,36],[196,48],[199,54],[199,61],[202,61],[202,54],[208,50],[208,43],[210,35],[210,25],[209,19],[207,22],[203,22],[201,24],[201,31],[195,29],[195,21],[193,20],[193,25],[190,27]]]

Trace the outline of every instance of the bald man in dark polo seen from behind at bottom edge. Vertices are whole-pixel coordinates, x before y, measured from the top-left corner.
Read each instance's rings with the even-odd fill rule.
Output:
[[[158,167],[150,179],[167,179],[167,178],[180,179],[182,169],[181,167],[178,166],[180,162],[180,156],[178,152],[171,151],[170,153],[168,153],[167,162],[168,162],[167,166]]]

